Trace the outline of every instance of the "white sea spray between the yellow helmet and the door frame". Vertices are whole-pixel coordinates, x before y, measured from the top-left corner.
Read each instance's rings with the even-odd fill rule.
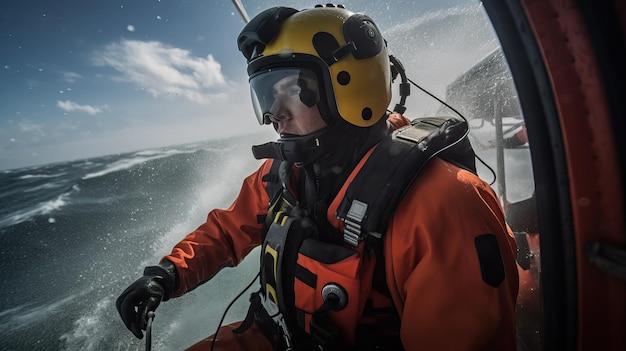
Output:
[[[485,17],[478,3],[453,7],[415,16],[389,28],[384,35],[408,78],[443,98],[448,84],[498,47]],[[432,115],[439,108],[435,99],[411,90],[407,117]]]

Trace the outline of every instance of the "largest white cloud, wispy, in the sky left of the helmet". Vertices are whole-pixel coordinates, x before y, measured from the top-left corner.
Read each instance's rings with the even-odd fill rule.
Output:
[[[208,103],[223,98],[226,79],[212,55],[193,56],[189,51],[157,41],[122,40],[96,54],[97,66],[121,73],[116,80],[136,84],[154,97],[181,96]]]

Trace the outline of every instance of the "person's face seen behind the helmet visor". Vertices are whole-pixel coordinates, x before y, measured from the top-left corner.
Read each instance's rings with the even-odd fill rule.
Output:
[[[281,136],[306,135],[326,126],[317,104],[307,106],[302,102],[302,91],[307,87],[317,89],[317,84],[298,75],[284,77],[273,85],[275,100],[269,111],[269,120]]]

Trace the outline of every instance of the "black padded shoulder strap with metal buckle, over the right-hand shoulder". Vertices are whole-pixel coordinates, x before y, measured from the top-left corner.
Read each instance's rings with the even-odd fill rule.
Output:
[[[357,246],[368,235],[382,237],[391,214],[432,157],[439,155],[476,173],[467,134],[463,120],[419,118],[377,145],[337,209],[337,217],[344,221],[344,241]]]

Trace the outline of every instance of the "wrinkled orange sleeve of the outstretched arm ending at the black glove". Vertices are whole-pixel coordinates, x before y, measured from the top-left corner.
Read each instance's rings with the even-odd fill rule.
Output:
[[[178,287],[173,296],[196,288],[224,267],[239,264],[261,244],[263,224],[259,223],[259,216],[267,214],[269,203],[262,177],[269,172],[270,166],[271,161],[266,161],[248,176],[228,209],[209,212],[204,224],[163,257],[162,260],[176,265]]]

